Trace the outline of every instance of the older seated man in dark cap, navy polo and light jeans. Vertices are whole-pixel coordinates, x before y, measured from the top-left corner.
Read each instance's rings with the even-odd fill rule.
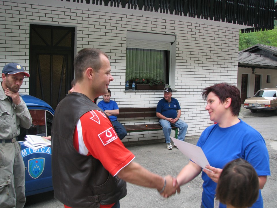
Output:
[[[165,88],[164,98],[158,102],[156,109],[157,117],[160,118],[159,122],[162,126],[162,131],[164,132],[167,149],[169,150],[172,149],[170,142],[171,127],[175,126],[179,128],[178,139],[182,141],[185,140],[185,135],[188,129],[188,125],[179,119],[181,116],[181,107],[179,102],[171,96],[171,88]]]

